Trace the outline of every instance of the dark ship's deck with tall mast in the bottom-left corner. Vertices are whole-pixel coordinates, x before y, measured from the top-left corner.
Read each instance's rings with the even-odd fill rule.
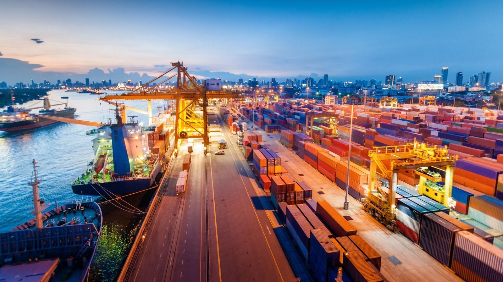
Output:
[[[42,213],[36,161],[33,186],[35,218],[9,232],[0,233],[0,280],[86,281],[103,224],[100,206],[72,200]]]

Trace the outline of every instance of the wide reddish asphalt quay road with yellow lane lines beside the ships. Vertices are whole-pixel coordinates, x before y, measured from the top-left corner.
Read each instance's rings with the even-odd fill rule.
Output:
[[[217,117],[210,116],[210,123],[219,123]],[[175,184],[182,147],[128,281],[298,280],[246,174],[250,168],[231,142],[235,138],[225,125],[222,130],[229,145],[225,155],[215,155],[212,144],[205,156],[195,140],[187,191],[180,197]]]

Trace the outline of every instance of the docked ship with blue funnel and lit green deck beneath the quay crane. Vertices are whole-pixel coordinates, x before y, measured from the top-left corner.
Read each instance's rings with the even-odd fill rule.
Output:
[[[143,127],[141,123],[123,123],[116,110],[116,124],[105,124],[87,132],[93,139],[94,159],[90,168],[72,184],[77,195],[125,195],[154,185],[172,140],[163,123]],[[150,132],[150,133],[148,133]],[[148,134],[147,134],[148,133]],[[157,140],[153,136],[157,136]]]

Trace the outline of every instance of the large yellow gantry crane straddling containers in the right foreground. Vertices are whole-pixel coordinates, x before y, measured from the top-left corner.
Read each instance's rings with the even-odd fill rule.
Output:
[[[445,166],[445,184],[433,193],[442,194],[441,203],[449,206],[451,201],[451,190],[454,172],[454,163],[458,159],[457,155],[449,155],[447,148],[429,146],[425,143],[414,141],[406,145],[374,147],[369,151],[370,157],[370,179],[367,198],[364,200],[365,211],[374,215],[385,226],[393,231],[397,231],[395,223],[395,193],[398,181],[398,170],[400,169],[418,169],[415,173],[419,174],[420,190],[419,193],[426,193],[429,189],[426,185],[427,180],[438,182],[442,177],[428,170],[429,166]],[[388,162],[389,164],[385,164]],[[382,187],[380,179],[389,180],[389,190],[386,192]],[[433,186],[433,185],[432,185]],[[432,188],[430,186],[430,188]],[[435,199],[435,200],[437,200]]]

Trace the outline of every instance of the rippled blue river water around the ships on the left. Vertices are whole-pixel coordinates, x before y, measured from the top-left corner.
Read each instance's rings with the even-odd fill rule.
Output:
[[[114,93],[115,91],[107,91]],[[77,119],[108,122],[114,118],[113,106],[100,102],[97,95],[51,90],[48,98],[63,101],[67,96],[70,107],[77,109]],[[25,105],[32,105],[34,101]],[[55,104],[54,102],[52,102]],[[154,113],[162,101],[152,101]],[[39,104],[42,104],[39,102]],[[127,106],[146,110],[146,101],[131,101]],[[164,102],[165,105],[165,102]],[[23,105],[24,106],[24,105]],[[63,106],[56,106],[63,107]],[[35,110],[36,112],[37,110]],[[138,116],[135,120],[148,124],[148,117]],[[155,114],[154,114],[155,115]],[[129,119],[129,118],[128,118]],[[115,118],[113,119],[115,121]],[[30,220],[33,215],[31,179],[32,160],[38,162],[40,196],[50,208],[54,201],[64,204],[68,199],[80,198],[71,192],[71,183],[84,172],[93,159],[92,135],[86,135],[89,126],[58,123],[30,131],[0,132],[0,232],[9,231]],[[137,194],[127,201],[136,206],[148,205],[150,195]],[[90,281],[113,281],[120,270],[120,263],[133,240],[133,232],[139,226],[138,215],[125,212],[114,205],[102,205],[104,226],[98,253],[93,261]]]

